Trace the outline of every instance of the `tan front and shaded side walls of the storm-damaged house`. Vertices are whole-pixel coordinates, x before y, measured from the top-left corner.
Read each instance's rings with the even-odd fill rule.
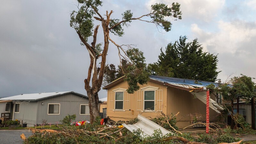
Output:
[[[115,90],[118,88],[120,91],[123,89],[128,89],[127,82],[121,82],[108,89],[107,116],[117,122],[119,120],[132,120],[137,117],[138,114],[151,119],[155,118],[157,115],[161,115],[162,112],[165,115],[180,112],[177,116],[177,120],[185,115],[195,113],[202,114],[202,120],[205,120],[206,105],[202,101],[195,99],[190,92],[167,87],[163,84],[157,84],[151,81],[149,81],[148,84],[140,85],[140,89],[147,86],[158,87],[158,89],[155,91],[155,109],[158,110],[157,112],[143,112],[144,92],[141,90],[134,92],[133,94],[124,92],[124,110],[115,110]],[[116,90],[116,92],[118,91],[119,90]],[[216,121],[216,115],[217,113],[210,108],[210,121]],[[177,126],[179,128],[184,128],[185,126],[191,124],[190,120],[190,116],[185,117],[177,123]]]

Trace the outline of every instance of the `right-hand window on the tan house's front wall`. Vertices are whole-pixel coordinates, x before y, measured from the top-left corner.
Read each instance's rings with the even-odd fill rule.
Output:
[[[155,91],[144,91],[144,110],[155,110]]]

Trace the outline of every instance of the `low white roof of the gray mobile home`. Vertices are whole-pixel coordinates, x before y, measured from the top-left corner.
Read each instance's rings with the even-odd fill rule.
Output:
[[[68,92],[43,92],[43,93],[30,93],[30,94],[20,94],[12,97],[2,98],[0,100],[38,100],[54,95],[60,95]]]

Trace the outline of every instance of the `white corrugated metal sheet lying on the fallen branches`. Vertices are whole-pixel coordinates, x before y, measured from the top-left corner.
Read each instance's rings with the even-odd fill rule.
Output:
[[[151,120],[147,119],[144,116],[138,115],[138,122],[136,124],[123,124],[125,128],[127,128],[130,132],[136,131],[140,129],[142,133],[140,134],[142,138],[152,136],[155,130],[161,130],[163,135],[172,133],[160,125],[152,122]],[[173,133],[172,133],[173,134]]]

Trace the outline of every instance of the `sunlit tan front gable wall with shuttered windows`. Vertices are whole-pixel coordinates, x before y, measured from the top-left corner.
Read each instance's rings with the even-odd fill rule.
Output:
[[[161,112],[166,112],[166,87],[161,84],[156,84],[153,82],[148,82],[148,84],[140,85],[140,89],[143,89],[147,86],[153,86],[158,87],[158,91],[156,90],[155,95],[157,97],[157,94],[159,96],[159,93],[163,96],[163,98],[158,98],[158,101],[155,100],[155,109],[161,107]],[[122,89],[128,89],[127,82],[121,82],[119,84],[116,84],[115,86],[108,89],[108,107],[107,107],[107,115],[110,119],[114,121],[127,121],[134,119],[138,116],[138,114],[141,114],[143,112],[143,109],[137,110],[138,108],[143,108],[143,94],[144,92],[139,90],[137,92],[134,92],[133,94],[128,94],[127,92],[124,92],[124,108],[126,110],[118,111],[115,110],[115,92],[113,90],[117,88]],[[112,98],[112,100],[111,100]],[[138,99],[139,98],[139,99]],[[142,99],[142,100],[141,100]],[[129,101],[127,101],[129,100]],[[138,101],[141,100],[141,101]],[[162,103],[159,104],[159,100],[162,100]],[[157,103],[158,102],[158,103]],[[159,115],[160,112],[144,112],[142,113],[142,116],[145,117],[156,117]]]

